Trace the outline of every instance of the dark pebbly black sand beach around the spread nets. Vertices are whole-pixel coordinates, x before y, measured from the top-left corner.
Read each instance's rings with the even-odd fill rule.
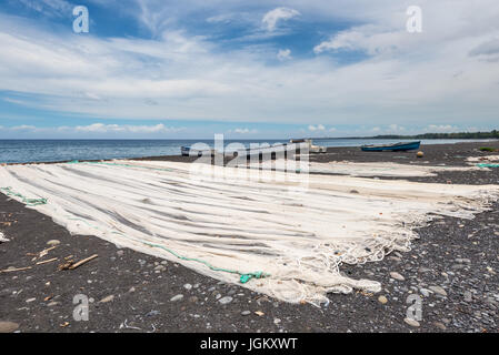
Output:
[[[480,146],[499,149],[499,142],[427,145],[421,148],[422,159],[415,152],[366,153],[335,148],[312,160],[456,166],[465,165],[467,156],[499,154],[480,152]],[[499,170],[409,180],[499,184]],[[119,250],[93,236],[71,236],[49,217],[3,194],[0,231],[10,240],[0,244],[0,270],[31,266],[0,273],[0,322],[17,324],[18,332],[499,331],[499,203],[472,221],[446,217],[420,229],[420,240],[408,253],[392,253],[379,263],[345,266],[349,275],[380,281],[382,292],[331,294],[329,305],[321,308],[278,302],[172,262]],[[60,244],[33,261],[32,254],[50,247],[48,242],[53,240]],[[58,270],[67,256],[78,261],[92,254],[99,256],[80,267]],[[53,257],[58,260],[36,264]],[[88,322],[73,320],[77,294],[93,300]],[[419,326],[405,322],[410,294],[422,296]]]

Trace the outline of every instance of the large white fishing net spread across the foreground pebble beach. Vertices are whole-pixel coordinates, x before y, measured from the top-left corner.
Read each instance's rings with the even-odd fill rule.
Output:
[[[97,235],[224,282],[242,277],[248,282],[241,285],[253,291],[313,304],[327,302],[328,292],[380,291],[376,280],[343,275],[341,264],[407,251],[417,237],[413,227],[438,215],[472,219],[499,195],[496,185],[193,166],[9,165],[0,168],[0,186],[71,233]],[[41,197],[47,204],[27,200]]]

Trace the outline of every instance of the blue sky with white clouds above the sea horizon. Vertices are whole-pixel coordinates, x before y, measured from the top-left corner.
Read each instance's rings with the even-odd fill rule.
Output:
[[[497,0],[3,0],[0,48],[0,138],[499,126]]]

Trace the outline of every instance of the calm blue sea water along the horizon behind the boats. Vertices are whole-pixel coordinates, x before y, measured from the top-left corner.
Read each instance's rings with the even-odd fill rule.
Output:
[[[313,142],[325,146],[359,146],[396,141],[398,140],[318,139]],[[0,140],[0,163],[179,155],[181,145],[192,145],[198,142],[213,146],[213,141],[210,140]],[[250,143],[275,144],[286,140],[226,140],[224,143],[227,145],[232,142],[249,146]],[[456,142],[460,140],[426,140],[422,144]]]

